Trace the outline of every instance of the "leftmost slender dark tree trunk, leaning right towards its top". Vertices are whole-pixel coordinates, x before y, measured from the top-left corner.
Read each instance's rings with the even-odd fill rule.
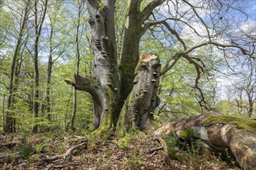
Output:
[[[7,111],[6,111],[6,115],[5,115],[5,127],[4,127],[4,131],[5,132],[13,132],[15,131],[15,118],[13,118],[13,113],[12,113],[12,101],[14,100],[14,95],[13,95],[13,90],[14,90],[14,82],[15,82],[15,70],[16,70],[16,64],[19,60],[19,53],[20,53],[20,49],[21,49],[21,44],[22,44],[22,36],[24,33],[24,29],[26,26],[26,21],[27,21],[27,17],[29,14],[29,3],[30,0],[28,0],[26,2],[26,8],[25,8],[25,12],[24,12],[24,16],[22,18],[22,24],[21,27],[19,29],[19,38],[18,41],[16,43],[16,49],[14,52],[14,56],[12,58],[12,66],[11,66],[11,71],[10,71],[10,80],[9,80],[9,97],[8,97],[8,102],[7,102]]]

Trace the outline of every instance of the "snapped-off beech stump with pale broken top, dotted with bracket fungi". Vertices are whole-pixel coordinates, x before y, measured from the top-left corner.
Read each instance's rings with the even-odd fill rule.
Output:
[[[161,64],[154,54],[141,55],[134,72],[133,90],[129,94],[121,110],[117,130],[120,135],[130,128],[146,128],[148,118],[153,118],[154,108],[157,107],[157,90],[159,85]]]

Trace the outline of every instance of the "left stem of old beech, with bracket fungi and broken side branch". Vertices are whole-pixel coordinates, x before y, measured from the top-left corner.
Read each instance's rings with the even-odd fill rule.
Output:
[[[115,1],[86,1],[92,29],[93,68],[88,77],[74,75],[70,83],[77,90],[92,94],[95,134],[107,136],[116,125],[119,114],[119,74],[117,70],[114,27]]]

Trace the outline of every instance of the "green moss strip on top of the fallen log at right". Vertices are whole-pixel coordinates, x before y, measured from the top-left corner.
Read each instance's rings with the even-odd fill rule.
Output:
[[[252,133],[256,134],[256,121],[254,121],[252,118],[238,118],[238,117],[231,117],[231,116],[218,116],[218,117],[209,116],[206,119],[206,121],[204,121],[203,123],[204,124],[234,123],[237,125],[237,128],[251,131]]]

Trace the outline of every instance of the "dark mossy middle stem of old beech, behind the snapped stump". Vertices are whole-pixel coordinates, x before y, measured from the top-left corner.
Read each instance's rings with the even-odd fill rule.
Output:
[[[140,39],[147,31],[147,26],[142,26],[152,14],[154,8],[161,5],[165,0],[150,2],[143,11],[140,11],[140,0],[128,1],[128,15],[123,37],[123,49],[120,63],[121,85],[123,100],[128,97],[133,88],[133,70],[139,61]]]

